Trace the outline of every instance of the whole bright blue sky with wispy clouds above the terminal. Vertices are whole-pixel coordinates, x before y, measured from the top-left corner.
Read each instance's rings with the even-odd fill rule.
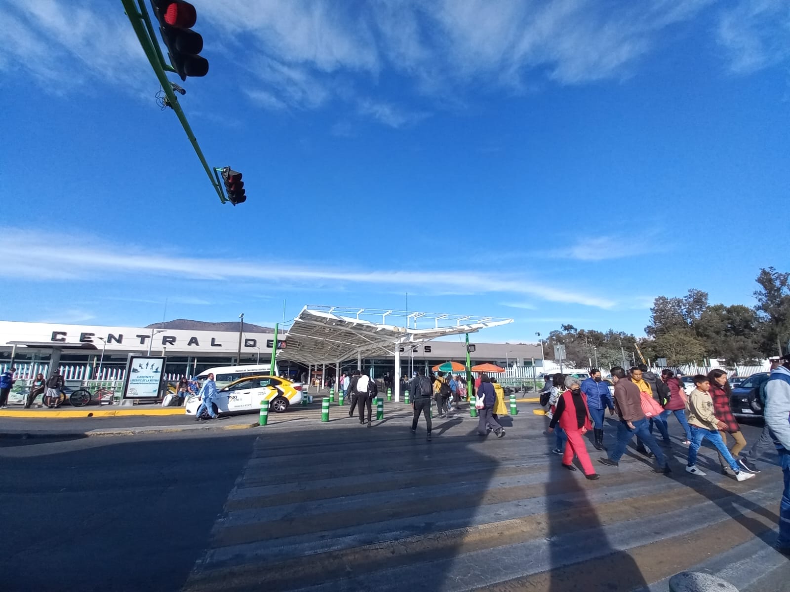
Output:
[[[210,70],[179,99],[243,172],[236,208],[120,2],[0,6],[4,320],[408,293],[516,320],[487,340],[640,335],[657,295],[751,304],[760,267],[790,271],[784,0],[194,3]]]

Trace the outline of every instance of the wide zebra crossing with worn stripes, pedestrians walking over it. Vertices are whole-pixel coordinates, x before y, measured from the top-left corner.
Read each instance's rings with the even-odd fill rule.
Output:
[[[757,592],[790,575],[770,547],[778,466],[695,478],[675,444],[670,476],[624,457],[587,481],[550,453],[544,418],[519,414],[502,440],[434,419],[426,442],[406,411],[261,432],[183,590],[666,592],[696,568]]]

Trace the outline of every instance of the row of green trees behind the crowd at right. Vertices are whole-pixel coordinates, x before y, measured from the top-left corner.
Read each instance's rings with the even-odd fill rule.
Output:
[[[682,298],[659,296],[650,309],[647,337],[563,324],[548,335],[546,358],[555,359],[555,345],[565,346],[564,360],[576,367],[630,365],[641,357],[653,364],[665,358],[671,366],[702,364],[705,358],[752,365],[784,354],[790,348],[790,273],[762,268],[756,282],[752,307],[712,305],[708,293],[695,288]]]

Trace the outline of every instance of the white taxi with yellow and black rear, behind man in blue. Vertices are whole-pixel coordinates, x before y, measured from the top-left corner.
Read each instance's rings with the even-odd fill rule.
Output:
[[[214,408],[220,415],[251,413],[261,409],[261,401],[268,401],[275,413],[285,413],[288,407],[302,403],[302,384],[268,375],[239,378],[219,389]],[[186,401],[186,414],[196,414],[200,403],[197,396],[191,396]]]

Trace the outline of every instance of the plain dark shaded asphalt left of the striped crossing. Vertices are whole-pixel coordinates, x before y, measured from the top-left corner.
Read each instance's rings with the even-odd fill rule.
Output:
[[[245,432],[0,440],[0,589],[179,590],[250,456]]]

